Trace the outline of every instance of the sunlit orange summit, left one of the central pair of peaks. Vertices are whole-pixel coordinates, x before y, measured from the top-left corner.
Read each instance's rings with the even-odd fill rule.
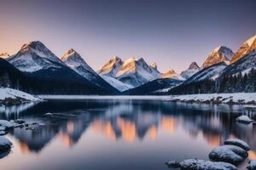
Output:
[[[116,73],[119,71],[122,65],[122,59],[120,59],[118,56],[113,56],[113,58],[110,59],[108,63],[103,65],[102,69],[98,71],[98,74],[109,77],[115,77]]]

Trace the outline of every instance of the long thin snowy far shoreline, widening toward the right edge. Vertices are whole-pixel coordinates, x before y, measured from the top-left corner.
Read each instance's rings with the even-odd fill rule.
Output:
[[[236,93],[236,94],[187,94],[187,95],[39,95],[41,99],[60,100],[83,100],[83,99],[148,99],[148,100],[169,100],[184,103],[208,103],[208,104],[238,104],[256,105],[256,93]]]

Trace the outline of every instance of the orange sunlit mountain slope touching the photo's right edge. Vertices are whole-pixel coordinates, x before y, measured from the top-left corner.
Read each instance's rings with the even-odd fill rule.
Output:
[[[235,63],[238,59],[241,59],[246,54],[253,52],[256,49],[256,35],[247,39],[246,42],[241,44],[241,47],[233,55],[231,63]]]

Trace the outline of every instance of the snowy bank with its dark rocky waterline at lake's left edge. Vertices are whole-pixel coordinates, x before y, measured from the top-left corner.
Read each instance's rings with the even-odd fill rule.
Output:
[[[39,101],[37,97],[31,94],[26,94],[19,90],[13,88],[0,88],[0,103],[10,105],[10,104],[20,104],[23,102],[36,102]]]

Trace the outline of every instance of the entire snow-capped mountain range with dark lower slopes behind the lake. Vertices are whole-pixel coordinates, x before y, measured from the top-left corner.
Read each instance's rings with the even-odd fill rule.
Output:
[[[191,83],[216,83],[227,76],[248,74],[256,67],[255,55],[253,36],[236,53],[224,46],[214,48],[201,67],[193,61],[181,74],[171,68],[161,73],[155,62],[148,65],[143,58],[123,61],[118,56],[94,71],[73,48],[59,58],[36,41],[24,44],[17,54],[0,54],[0,85],[32,94],[158,94]]]

